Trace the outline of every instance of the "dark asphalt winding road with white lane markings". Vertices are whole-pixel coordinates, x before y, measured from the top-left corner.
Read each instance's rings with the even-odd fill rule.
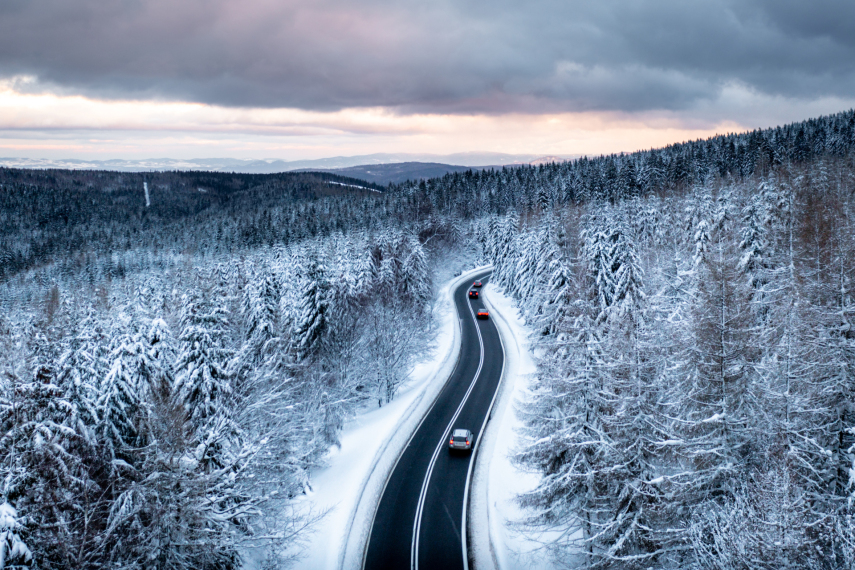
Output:
[[[487,275],[481,277],[485,284]],[[466,500],[477,449],[472,455],[451,455],[448,439],[452,429],[466,428],[475,434],[477,445],[504,363],[492,319],[475,319],[484,305],[467,298],[470,285],[454,292],[462,333],[460,358],[386,483],[365,552],[366,569],[469,567]]]

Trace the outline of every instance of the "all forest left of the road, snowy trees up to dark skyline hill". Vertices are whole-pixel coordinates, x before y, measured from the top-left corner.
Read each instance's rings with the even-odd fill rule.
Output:
[[[343,422],[393,398],[430,347],[455,228],[405,227],[375,192],[306,175],[241,196],[152,174],[153,208],[167,202],[152,212],[141,178],[0,174],[4,245],[20,247],[0,317],[7,551],[164,569],[299,553],[318,513],[292,499]]]

